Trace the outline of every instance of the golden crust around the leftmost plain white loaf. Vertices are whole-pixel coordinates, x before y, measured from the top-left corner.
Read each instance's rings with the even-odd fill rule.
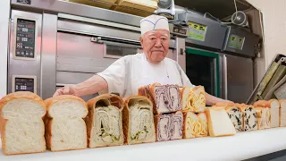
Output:
[[[18,99],[18,98],[26,98],[26,99],[29,99],[32,101],[36,101],[40,106],[42,106],[44,108],[45,113],[46,113],[46,106],[45,106],[43,99],[41,97],[39,97],[37,94],[29,92],[29,91],[19,91],[19,92],[10,93],[10,94],[8,94],[8,95],[6,95],[0,99],[0,136],[1,136],[1,140],[2,140],[2,149],[3,149],[4,155],[6,155],[6,156],[19,155],[19,154],[31,154],[31,153],[26,153],[26,152],[21,152],[21,153],[17,153],[17,154],[8,154],[6,152],[5,127],[6,127],[6,123],[8,122],[8,119],[4,119],[4,117],[3,117],[3,108],[8,102],[10,102],[14,99]],[[43,121],[44,121],[44,117],[45,116],[42,117]],[[46,147],[45,130],[43,133],[44,133],[43,141],[44,141],[44,144]],[[46,151],[46,148],[42,151],[33,152],[33,153],[42,153],[45,151]]]

